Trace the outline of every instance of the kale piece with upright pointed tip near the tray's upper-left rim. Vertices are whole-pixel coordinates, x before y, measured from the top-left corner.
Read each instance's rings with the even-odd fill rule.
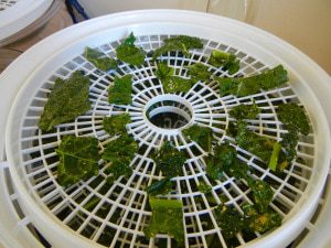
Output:
[[[124,42],[116,47],[116,56],[118,60],[126,62],[130,65],[142,65],[145,63],[146,52],[135,45],[136,37],[130,33]]]

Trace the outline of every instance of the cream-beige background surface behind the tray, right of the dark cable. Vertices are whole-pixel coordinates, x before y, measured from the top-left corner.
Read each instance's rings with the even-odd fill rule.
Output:
[[[330,0],[78,0],[90,17],[125,10],[184,9],[261,28],[292,44],[331,75]]]

